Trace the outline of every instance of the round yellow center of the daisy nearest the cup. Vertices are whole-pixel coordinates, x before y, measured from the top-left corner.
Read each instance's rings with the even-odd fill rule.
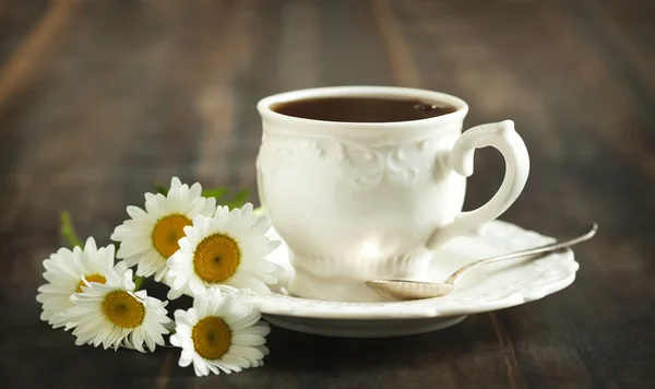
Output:
[[[209,283],[219,284],[228,280],[239,267],[241,250],[237,241],[225,234],[204,238],[193,254],[193,270]]]

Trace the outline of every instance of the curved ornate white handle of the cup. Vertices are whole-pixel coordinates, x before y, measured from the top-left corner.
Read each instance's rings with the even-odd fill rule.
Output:
[[[507,211],[521,194],[529,173],[529,158],[512,120],[476,126],[460,135],[450,154],[451,167],[461,176],[471,176],[475,149],[486,146],[498,149],[504,157],[505,175],[500,189],[485,205],[461,212],[450,223],[437,228],[426,243],[428,249],[434,250],[455,236],[476,234],[486,223]]]

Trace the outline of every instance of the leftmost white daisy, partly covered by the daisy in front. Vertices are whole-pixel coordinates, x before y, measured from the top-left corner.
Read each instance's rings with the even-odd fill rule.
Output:
[[[41,303],[41,320],[53,328],[63,327],[66,318],[61,315],[73,304],[70,297],[82,292],[85,278],[88,282],[105,282],[105,269],[114,267],[114,245],[96,246],[93,238],[86,239],[84,249],[60,248],[44,261],[44,279],[47,284],[39,286],[36,300]]]

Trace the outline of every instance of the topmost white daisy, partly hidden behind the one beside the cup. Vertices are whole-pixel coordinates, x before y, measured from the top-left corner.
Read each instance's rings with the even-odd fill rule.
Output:
[[[155,281],[162,281],[167,271],[166,260],[178,250],[184,226],[191,225],[193,216],[211,216],[216,210],[216,199],[201,193],[200,184],[189,188],[177,177],[170,180],[167,196],[145,193],[145,211],[128,207],[132,219],[111,234],[112,240],[121,243],[116,256],[124,258],[128,267],[138,264],[136,275],[155,274]]]

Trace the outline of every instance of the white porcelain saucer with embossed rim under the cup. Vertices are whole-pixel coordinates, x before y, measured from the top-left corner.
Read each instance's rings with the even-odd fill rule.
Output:
[[[274,232],[273,232],[274,234]],[[477,259],[540,246],[552,238],[495,221],[476,237],[458,237],[445,245],[430,267],[428,279],[443,281],[457,268]],[[573,251],[537,260],[517,259],[480,268],[443,297],[413,302],[342,303],[287,295],[294,270],[283,245],[270,259],[284,272],[274,293],[257,296],[264,319],[306,333],[344,338],[386,338],[417,334],[450,327],[467,315],[508,308],[561,291],[575,280],[579,263]]]

